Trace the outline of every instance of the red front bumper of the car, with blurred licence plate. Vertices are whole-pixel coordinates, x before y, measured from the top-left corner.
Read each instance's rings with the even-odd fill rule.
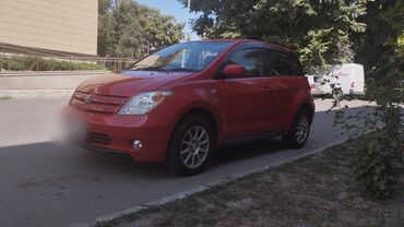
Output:
[[[91,150],[120,152],[136,162],[163,162],[171,132],[173,119],[143,116],[118,116],[87,112],[68,107],[67,118],[85,124],[86,136],[81,146]],[[132,146],[134,140],[143,144]]]

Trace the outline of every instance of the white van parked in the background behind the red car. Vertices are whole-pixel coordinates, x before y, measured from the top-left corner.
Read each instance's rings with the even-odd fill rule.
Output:
[[[331,94],[334,98],[341,98],[344,95],[365,94],[365,72],[361,64],[334,64],[326,73],[306,76],[312,95]]]

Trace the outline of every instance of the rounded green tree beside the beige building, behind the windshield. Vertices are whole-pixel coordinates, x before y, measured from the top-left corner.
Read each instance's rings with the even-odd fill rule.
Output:
[[[174,16],[135,1],[99,0],[98,8],[98,56],[140,59],[183,37]]]

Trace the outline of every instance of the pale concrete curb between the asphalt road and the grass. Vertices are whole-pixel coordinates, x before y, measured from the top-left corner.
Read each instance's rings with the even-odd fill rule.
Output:
[[[221,186],[221,184],[237,180],[239,178],[246,177],[248,175],[252,175],[252,174],[256,174],[256,172],[259,172],[259,171],[263,171],[263,170],[268,170],[268,169],[273,168],[273,167],[281,166],[283,164],[293,163],[293,162],[295,162],[297,159],[300,159],[302,157],[307,157],[307,156],[320,153],[320,152],[322,152],[326,148],[330,148],[332,146],[340,145],[340,144],[342,144],[346,141],[347,141],[347,139],[343,139],[343,140],[337,141],[337,142],[330,143],[328,145],[321,146],[321,147],[319,147],[317,150],[313,150],[311,152],[307,152],[305,154],[300,154],[300,155],[297,155],[295,157],[292,157],[292,158],[288,158],[288,159],[285,159],[285,160],[272,163],[272,164],[269,164],[269,165],[263,166],[263,167],[259,167],[259,168],[250,169],[250,170],[245,171],[245,172],[236,174],[236,175],[226,177],[224,179],[213,181],[213,182],[207,183],[205,186],[200,186],[200,187],[197,187],[197,188],[183,191],[183,192],[179,192],[177,194],[173,194],[173,195],[159,199],[159,200],[152,201],[152,202],[146,203],[144,205],[133,206],[131,208],[127,208],[127,210],[123,210],[123,211],[120,211],[120,212],[117,212],[117,213],[112,213],[112,214],[109,214],[109,215],[98,217],[98,218],[94,219],[91,223],[74,224],[74,225],[71,225],[70,227],[93,227],[93,226],[96,226],[96,225],[99,225],[99,224],[109,223],[109,222],[116,220],[116,219],[118,219],[122,216],[144,211],[144,210],[146,210],[151,206],[164,205],[164,204],[177,201],[177,200],[182,200],[182,199],[186,199],[190,195],[197,194],[199,192],[203,192],[203,191],[205,191],[205,190],[207,190],[212,187]]]

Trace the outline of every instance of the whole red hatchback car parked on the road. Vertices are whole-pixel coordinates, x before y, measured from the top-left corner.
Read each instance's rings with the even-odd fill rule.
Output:
[[[83,146],[164,162],[190,176],[224,144],[283,136],[290,147],[302,147],[314,105],[292,50],[256,40],[202,40],[84,82],[68,109]]]

